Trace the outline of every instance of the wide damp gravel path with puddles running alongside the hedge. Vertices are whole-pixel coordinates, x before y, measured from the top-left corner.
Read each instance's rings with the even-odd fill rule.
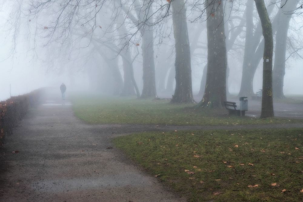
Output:
[[[68,101],[45,102],[0,150],[0,201],[184,201],[110,148],[115,135],[151,129],[84,124]]]

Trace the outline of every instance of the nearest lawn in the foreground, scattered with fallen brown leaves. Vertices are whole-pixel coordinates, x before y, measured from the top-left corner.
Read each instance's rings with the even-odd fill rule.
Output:
[[[303,130],[146,132],[116,147],[190,201],[303,201]]]

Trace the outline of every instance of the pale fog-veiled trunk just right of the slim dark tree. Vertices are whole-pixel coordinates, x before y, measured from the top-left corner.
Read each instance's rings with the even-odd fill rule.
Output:
[[[292,12],[298,5],[298,0],[281,2],[281,6],[278,13],[278,26],[276,34],[275,45],[275,61],[272,72],[273,76],[273,95],[274,98],[284,98],[283,85],[285,75],[285,54],[286,54],[286,41],[289,27],[289,21],[291,19]],[[286,3],[286,4],[285,4]]]

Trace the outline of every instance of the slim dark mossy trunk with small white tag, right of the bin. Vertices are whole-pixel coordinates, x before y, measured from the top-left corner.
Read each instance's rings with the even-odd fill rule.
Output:
[[[261,20],[262,33],[264,37],[261,118],[268,118],[274,116],[274,107],[272,101],[272,54],[274,45],[271,22],[264,0],[255,0],[255,3]]]

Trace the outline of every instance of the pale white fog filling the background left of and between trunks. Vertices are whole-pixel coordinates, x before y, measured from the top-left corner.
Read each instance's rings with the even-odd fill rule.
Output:
[[[101,4],[96,5],[96,8],[100,8],[96,18],[90,18],[94,12],[91,7],[88,7],[87,9],[90,11],[79,10],[80,17],[71,18],[68,30],[64,30],[66,27],[62,24],[52,30],[52,26],[54,26],[52,23],[55,22],[58,15],[52,9],[60,8],[56,7],[58,5],[36,11],[37,14],[33,15],[28,12],[29,1],[23,1],[22,4],[20,1],[21,7],[18,7],[20,4],[17,2],[19,1],[0,1],[0,26],[3,27],[0,30],[2,75],[0,100],[25,94],[41,87],[58,88],[59,93],[59,86],[62,82],[67,86],[67,93],[69,91],[94,91],[108,96],[121,95],[123,87],[119,87],[119,85],[125,87],[123,81],[126,79],[124,71],[127,58],[133,61],[135,82],[142,94],[144,84],[142,79],[143,37],[142,33],[140,34],[138,31],[136,23],[130,20],[131,14],[135,15],[135,12],[132,11],[134,7],[130,3],[125,4],[130,10],[128,15],[125,15],[121,8],[118,9],[121,12],[119,16],[122,20],[118,19],[118,15],[118,17],[114,16],[116,14],[112,10],[113,4],[104,3],[102,6]],[[187,26],[191,46],[192,91],[194,95],[197,95],[200,91],[203,68],[207,63],[206,14],[197,18],[201,13],[193,9],[191,2],[187,2]],[[225,27],[228,29],[225,29],[225,35],[227,39],[231,38],[233,30],[240,26],[239,18],[245,13],[245,2],[235,2],[233,6],[228,1],[225,2]],[[269,1],[265,2],[269,5]],[[155,1],[154,10],[165,3],[167,2]],[[158,22],[153,25],[154,45],[152,49],[154,49],[156,92],[159,97],[171,98],[176,86],[175,81],[170,80],[172,76],[174,77],[170,73],[175,71],[175,39],[172,16],[163,15],[165,8],[161,13],[160,11],[155,12],[153,16],[154,22],[157,20]],[[22,12],[18,13],[20,10]],[[171,12],[171,10],[169,11]],[[270,15],[271,20],[274,19],[277,12],[278,6],[273,9]],[[67,13],[62,15],[67,15]],[[259,23],[256,10],[253,15],[256,25]],[[161,16],[163,20],[159,21]],[[92,20],[89,21],[89,19]],[[289,22],[284,94],[303,94],[301,24],[301,15],[293,15]],[[145,27],[145,32],[147,30],[150,30],[148,26]],[[237,95],[240,91],[244,47],[245,26],[228,51],[229,76],[227,83],[230,94]],[[121,76],[114,75],[116,73],[112,72],[115,65]],[[121,77],[122,84],[117,82],[117,77]],[[114,93],[117,88],[121,89]],[[134,87],[131,88],[131,91],[135,92]],[[262,62],[260,61],[253,78],[253,91],[257,92],[261,88]],[[133,92],[128,95],[134,95]]]

